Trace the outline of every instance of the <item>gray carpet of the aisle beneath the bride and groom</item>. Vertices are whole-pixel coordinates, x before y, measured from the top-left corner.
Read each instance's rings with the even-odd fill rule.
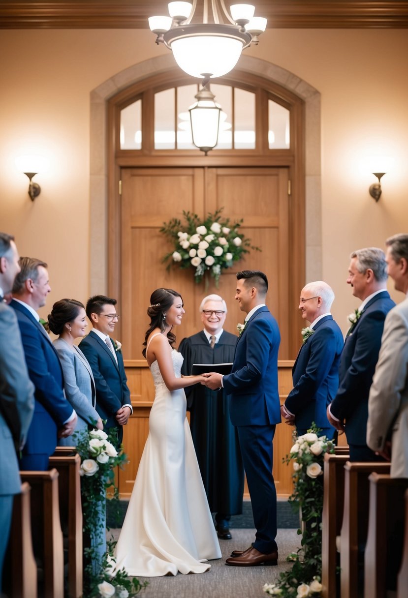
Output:
[[[120,529],[111,529],[114,538]],[[199,575],[176,575],[166,577],[141,578],[148,581],[148,587],[141,598],[266,598],[262,591],[265,583],[274,583],[279,573],[291,567],[285,557],[296,552],[300,546],[300,536],[296,529],[279,529],[276,541],[279,547],[278,566],[229,567],[225,559],[232,550],[248,548],[255,538],[254,529],[233,529],[232,540],[220,540],[223,558],[211,562],[211,569]]]

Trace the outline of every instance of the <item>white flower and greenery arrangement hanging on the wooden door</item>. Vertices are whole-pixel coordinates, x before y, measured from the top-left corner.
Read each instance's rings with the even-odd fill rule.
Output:
[[[197,283],[209,272],[218,286],[224,269],[230,268],[249,249],[261,251],[239,232],[242,218],[232,223],[229,218],[221,219],[222,211],[223,208],[220,208],[200,220],[197,214],[183,210],[186,224],[182,225],[178,218],[163,223],[160,233],[165,234],[174,246],[174,251],[163,257],[163,262],[169,262],[168,270],[172,264],[177,264],[180,268],[193,268]]]

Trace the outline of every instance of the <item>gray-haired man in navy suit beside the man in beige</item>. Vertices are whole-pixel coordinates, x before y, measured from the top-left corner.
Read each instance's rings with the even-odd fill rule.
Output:
[[[351,254],[347,283],[362,301],[349,316],[340,358],[339,390],[327,408],[331,425],[346,432],[351,461],[377,461],[366,443],[369,393],[378,361],[385,316],[394,301],[386,290],[387,264],[381,249],[358,249]]]

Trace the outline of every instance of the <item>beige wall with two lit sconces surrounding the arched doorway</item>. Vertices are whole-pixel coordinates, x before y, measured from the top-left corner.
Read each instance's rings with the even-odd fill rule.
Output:
[[[1,32],[0,230],[16,234],[22,255],[48,261],[50,304],[86,300],[89,292],[90,91],[160,53],[165,48],[147,30]],[[407,31],[269,30],[246,53],[321,93],[323,277],[345,329],[345,316],[358,306],[345,283],[349,252],[408,231]],[[51,162],[35,179],[42,191],[34,204],[28,179],[14,166],[33,149]],[[377,151],[392,155],[395,167],[376,204],[368,193],[374,178],[359,162]]]

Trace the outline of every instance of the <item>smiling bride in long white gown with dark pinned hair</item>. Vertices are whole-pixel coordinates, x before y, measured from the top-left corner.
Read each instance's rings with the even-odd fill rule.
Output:
[[[184,388],[203,376],[181,377],[182,355],[172,348],[172,327],[185,313],[181,296],[157,289],[150,297],[151,322],[143,355],[156,396],[149,435],[115,549],[115,569],[154,577],[203,573],[221,551],[203,487],[190,427]]]

